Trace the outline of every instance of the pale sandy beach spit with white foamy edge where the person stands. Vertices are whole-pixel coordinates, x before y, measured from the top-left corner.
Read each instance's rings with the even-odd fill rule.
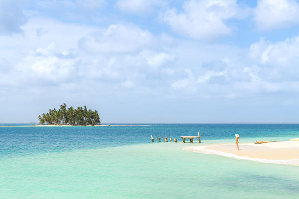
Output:
[[[235,143],[186,147],[184,150],[225,156],[240,160],[299,166],[299,141],[280,141],[264,144]]]

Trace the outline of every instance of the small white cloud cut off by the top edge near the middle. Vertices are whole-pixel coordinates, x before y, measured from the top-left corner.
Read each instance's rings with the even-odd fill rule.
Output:
[[[148,14],[154,7],[163,6],[165,3],[161,0],[118,0],[116,6],[126,12]]]

